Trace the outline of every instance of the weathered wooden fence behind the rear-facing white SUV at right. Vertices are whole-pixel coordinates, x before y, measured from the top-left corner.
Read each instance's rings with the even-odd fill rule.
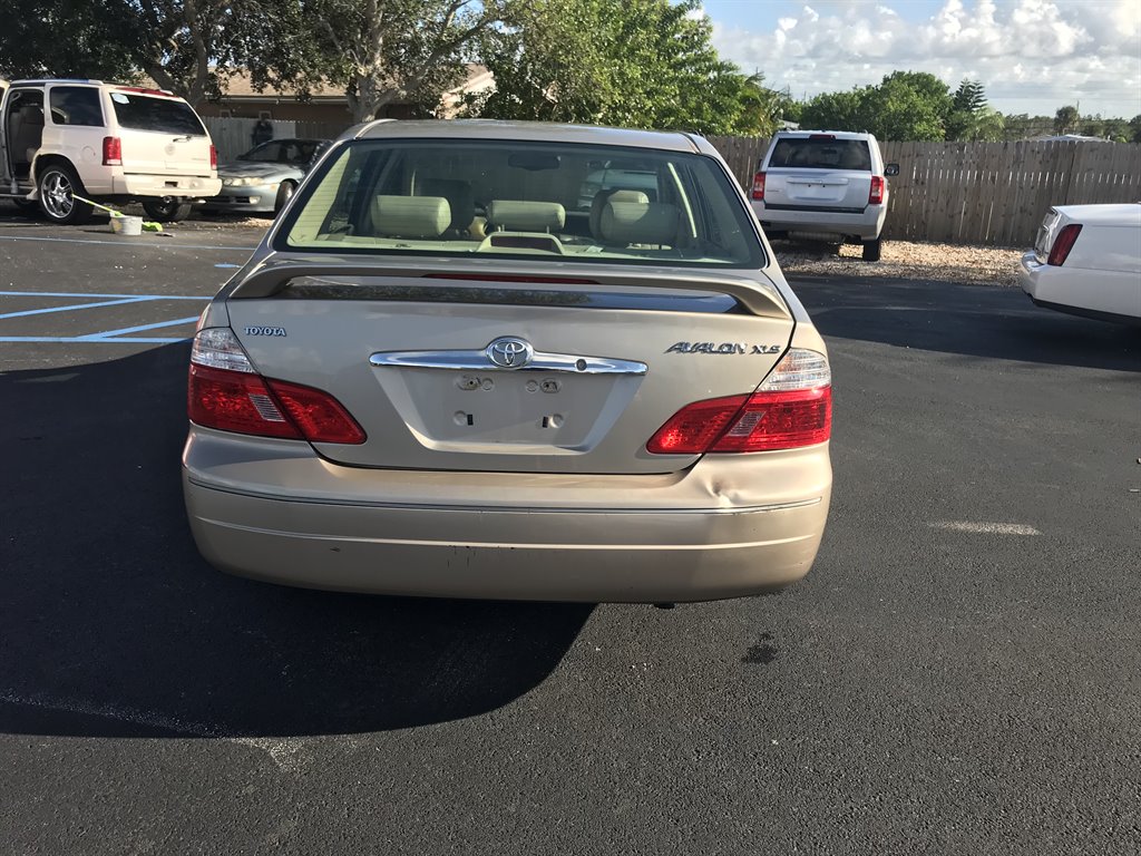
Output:
[[[747,192],[769,142],[710,137]],[[1126,143],[881,143],[884,237],[1028,247],[1053,205],[1141,201],[1141,145]]]

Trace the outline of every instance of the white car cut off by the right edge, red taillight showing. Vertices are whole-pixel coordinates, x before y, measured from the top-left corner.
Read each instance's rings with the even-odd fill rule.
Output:
[[[1141,202],[1050,209],[1021,285],[1038,306],[1103,321],[1141,321]]]

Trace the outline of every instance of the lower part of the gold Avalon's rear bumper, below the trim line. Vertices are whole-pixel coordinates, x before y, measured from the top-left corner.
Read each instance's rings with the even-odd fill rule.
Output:
[[[707,600],[780,589],[819,548],[828,498],[733,514],[316,504],[184,482],[202,555],[307,588],[531,600]]]

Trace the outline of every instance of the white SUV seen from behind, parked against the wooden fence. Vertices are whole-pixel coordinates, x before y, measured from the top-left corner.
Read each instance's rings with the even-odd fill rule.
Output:
[[[752,203],[769,237],[841,237],[864,244],[880,259],[888,213],[888,176],[871,134],[778,131],[753,176]]]

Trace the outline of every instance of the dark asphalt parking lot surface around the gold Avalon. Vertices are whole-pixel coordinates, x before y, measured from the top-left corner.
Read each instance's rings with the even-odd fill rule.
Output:
[[[212,571],[193,318],[257,229],[0,210],[0,851],[1124,854],[1141,334],[794,281],[835,378],[809,578],[674,609]]]

